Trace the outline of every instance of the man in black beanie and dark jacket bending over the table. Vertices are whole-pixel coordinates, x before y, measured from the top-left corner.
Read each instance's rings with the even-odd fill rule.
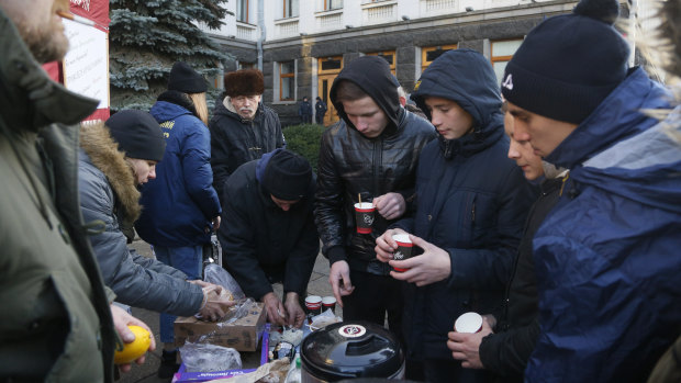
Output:
[[[310,164],[277,149],[242,165],[227,181],[217,232],[224,267],[246,295],[265,303],[270,323],[301,327],[300,297],[320,249]],[[283,303],[273,293],[275,282],[283,283]]]

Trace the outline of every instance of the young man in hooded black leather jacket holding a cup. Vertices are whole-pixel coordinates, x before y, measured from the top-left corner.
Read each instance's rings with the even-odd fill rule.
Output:
[[[373,247],[408,211],[418,154],[435,131],[400,108],[398,86],[386,60],[372,56],[355,59],[334,80],[331,101],[342,120],[322,137],[315,222],[344,319],[383,325],[388,313],[390,328],[401,334],[401,288]],[[356,232],[358,194],[376,206],[370,234]]]

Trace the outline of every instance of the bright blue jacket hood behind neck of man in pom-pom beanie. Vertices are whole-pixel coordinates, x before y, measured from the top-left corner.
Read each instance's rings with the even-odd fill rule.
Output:
[[[670,108],[670,93],[634,68],[546,160],[570,178],[639,203],[681,212],[681,150],[668,135],[680,109],[659,122],[646,114]]]

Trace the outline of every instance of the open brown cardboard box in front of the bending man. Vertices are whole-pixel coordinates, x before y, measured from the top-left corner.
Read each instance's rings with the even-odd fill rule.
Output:
[[[264,303],[256,303],[248,315],[231,324],[203,322],[189,317],[175,320],[175,346],[181,347],[186,340],[231,347],[238,351],[255,351],[265,330],[266,312]]]

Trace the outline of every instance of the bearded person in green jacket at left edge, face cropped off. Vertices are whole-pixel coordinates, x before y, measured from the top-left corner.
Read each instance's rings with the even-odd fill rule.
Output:
[[[111,305],[80,216],[76,124],[98,102],[54,82],[40,64],[64,58],[56,12],[68,8],[0,0],[2,382],[113,382],[119,338],[135,339],[127,325],[148,329]]]

